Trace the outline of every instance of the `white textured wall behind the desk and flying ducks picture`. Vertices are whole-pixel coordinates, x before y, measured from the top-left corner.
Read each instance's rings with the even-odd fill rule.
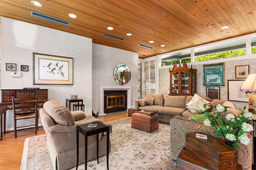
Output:
[[[32,53],[73,57],[74,85],[33,85]],[[11,77],[5,63],[16,63],[22,77]],[[29,71],[20,71],[28,65]],[[84,100],[87,114],[92,107],[92,39],[38,25],[1,17],[1,89],[40,87],[48,90],[48,99],[66,104],[77,94]],[[7,111],[6,128],[13,129],[13,112]],[[39,119],[40,120],[40,119]],[[18,120],[17,126],[31,125],[33,119]]]

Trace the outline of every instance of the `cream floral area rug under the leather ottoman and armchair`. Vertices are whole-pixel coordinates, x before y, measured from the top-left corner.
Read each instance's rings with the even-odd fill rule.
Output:
[[[110,134],[111,152],[109,169],[118,170],[172,170],[176,168],[170,159],[169,125],[159,123],[159,129],[148,133],[131,127],[131,118],[108,122],[112,125]],[[20,169],[53,169],[46,143],[47,136],[26,138]],[[75,156],[75,155],[74,155]],[[106,169],[106,155],[87,162],[87,169]],[[76,167],[71,168],[72,170]],[[84,164],[78,166],[84,169]]]

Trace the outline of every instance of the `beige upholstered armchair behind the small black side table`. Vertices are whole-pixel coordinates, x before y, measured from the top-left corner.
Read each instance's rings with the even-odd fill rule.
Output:
[[[101,120],[82,111],[70,112],[56,101],[48,101],[39,110],[47,134],[47,149],[54,169],[76,166],[76,125]],[[102,123],[102,122],[101,122]],[[111,125],[110,133],[112,132]],[[110,148],[110,147],[109,147]],[[106,133],[99,134],[99,156],[106,154]],[[88,137],[88,159],[97,158],[96,135]],[[84,136],[79,133],[79,164],[84,163]]]

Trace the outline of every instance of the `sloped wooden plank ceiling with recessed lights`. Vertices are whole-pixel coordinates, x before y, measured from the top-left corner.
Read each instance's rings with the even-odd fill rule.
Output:
[[[0,0],[0,15],[84,37],[93,43],[138,52],[140,58],[256,32],[255,0]],[[30,15],[35,11],[70,26]],[[72,19],[68,14],[77,15]],[[222,26],[229,26],[221,30]],[[107,30],[113,27],[114,30]],[[119,41],[103,36],[108,33]],[[127,36],[126,33],[132,33]],[[154,43],[148,43],[154,41]],[[155,47],[147,49],[145,44]],[[161,47],[160,45],[165,45]],[[145,55],[145,56],[143,56]]]

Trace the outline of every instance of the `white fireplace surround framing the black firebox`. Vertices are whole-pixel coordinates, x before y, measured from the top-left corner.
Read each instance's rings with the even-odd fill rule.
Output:
[[[104,90],[127,90],[127,108],[131,107],[131,88],[132,86],[99,86],[99,116],[106,115],[104,113]]]

